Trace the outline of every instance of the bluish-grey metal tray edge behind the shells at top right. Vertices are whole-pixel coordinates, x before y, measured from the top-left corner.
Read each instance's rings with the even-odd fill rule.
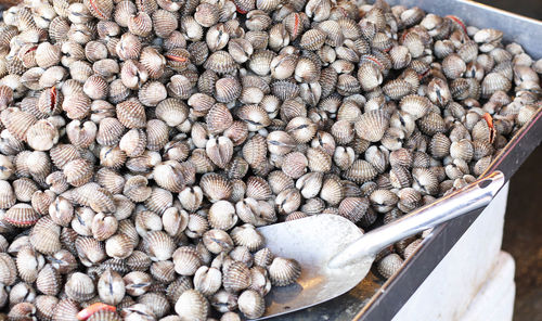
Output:
[[[540,0],[533,0],[533,5]],[[495,28],[504,33],[505,42],[517,42],[533,59],[542,57],[542,22],[468,0],[387,0],[390,5],[418,7],[438,15],[453,14],[467,25]]]

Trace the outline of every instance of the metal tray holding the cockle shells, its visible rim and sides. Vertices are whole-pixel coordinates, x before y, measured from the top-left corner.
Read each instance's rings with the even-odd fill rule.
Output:
[[[390,5],[420,7],[439,15],[453,14],[467,25],[479,28],[498,28],[504,33],[505,43],[515,41],[533,59],[542,57],[542,41],[539,37],[533,37],[542,35],[540,21],[466,0],[387,2]],[[508,181],[541,141],[542,108],[516,133],[487,171],[501,170]],[[273,320],[391,320],[482,210],[483,208],[475,210],[436,228],[416,253],[405,260],[399,272],[387,281],[370,272],[358,286],[335,299]]]

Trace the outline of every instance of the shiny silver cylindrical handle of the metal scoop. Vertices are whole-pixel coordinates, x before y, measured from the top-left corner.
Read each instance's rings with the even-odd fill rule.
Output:
[[[501,190],[504,182],[504,175],[501,171],[493,171],[461,190],[363,234],[335,255],[327,266],[338,269],[361,258],[374,256],[384,247],[400,240],[486,206]]]

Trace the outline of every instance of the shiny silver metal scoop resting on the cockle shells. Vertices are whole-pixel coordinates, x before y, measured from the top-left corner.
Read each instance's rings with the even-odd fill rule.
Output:
[[[260,319],[305,309],[348,292],[365,278],[384,247],[488,205],[504,182],[504,175],[494,171],[365,234],[348,219],[326,214],[259,228],[273,254],[295,258],[301,265],[301,277],[295,284],[275,286],[266,296],[267,309]]]

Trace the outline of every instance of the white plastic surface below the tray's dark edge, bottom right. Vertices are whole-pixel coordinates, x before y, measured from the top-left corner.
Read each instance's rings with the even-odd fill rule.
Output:
[[[496,295],[495,297],[486,295],[486,300],[492,304],[489,310],[480,308],[478,311],[481,312],[473,312],[477,311],[477,308],[470,306],[496,267],[503,237],[507,195],[508,184],[501,190],[427,277],[393,317],[393,321],[463,320],[464,316],[465,318],[476,316],[475,319],[465,319],[468,321],[512,320],[512,314],[507,319],[493,319],[490,318],[489,313],[495,310],[495,304],[504,305],[506,303],[507,307],[500,308],[512,310],[513,296],[506,300]],[[514,273],[506,275],[509,277],[513,284]],[[509,282],[507,284],[509,285]],[[488,294],[490,293],[488,292]],[[488,318],[481,317],[483,311],[488,313]]]

